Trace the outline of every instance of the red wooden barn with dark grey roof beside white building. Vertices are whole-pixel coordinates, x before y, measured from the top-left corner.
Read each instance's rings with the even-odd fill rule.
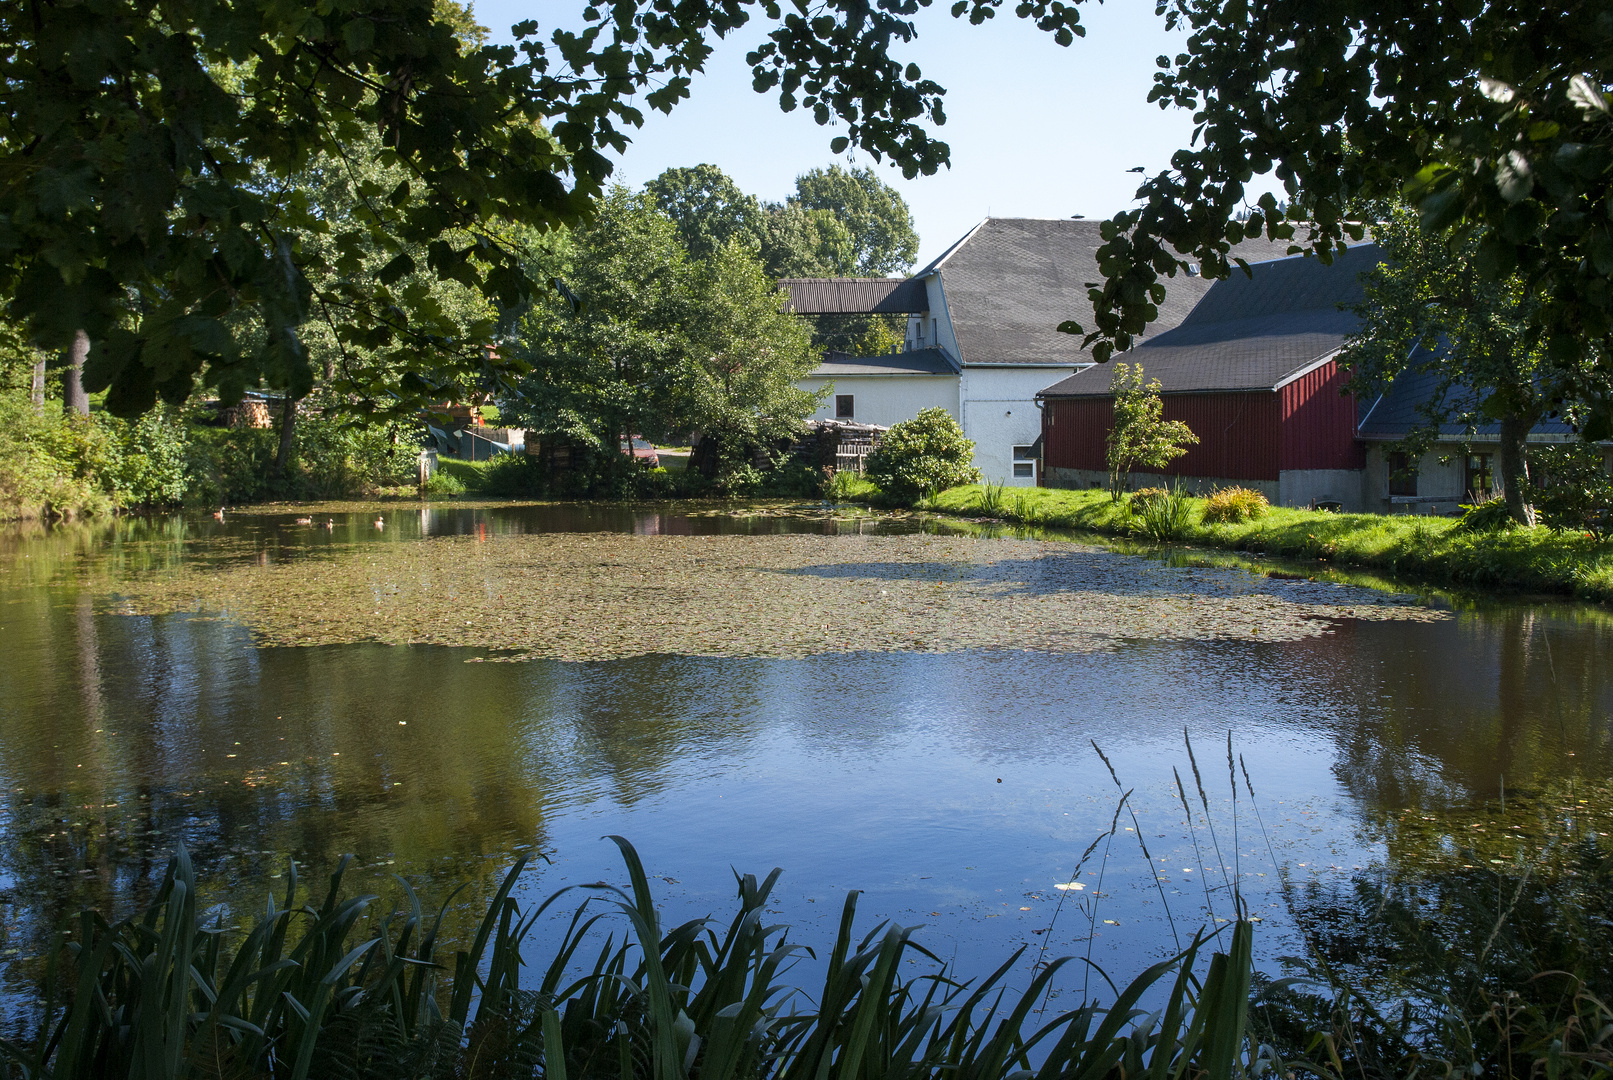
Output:
[[[1345,308],[1379,260],[1368,243],[1331,266],[1253,263],[1252,276],[1234,271],[1179,326],[1119,356],[1158,379],[1165,417],[1198,435],[1163,476],[1134,474],[1132,487],[1169,477],[1192,490],[1252,487],[1281,506],[1365,509],[1366,453],[1337,358],[1358,322]],[[1086,368],[1037,395],[1047,487],[1107,484],[1113,374],[1113,363]]]

